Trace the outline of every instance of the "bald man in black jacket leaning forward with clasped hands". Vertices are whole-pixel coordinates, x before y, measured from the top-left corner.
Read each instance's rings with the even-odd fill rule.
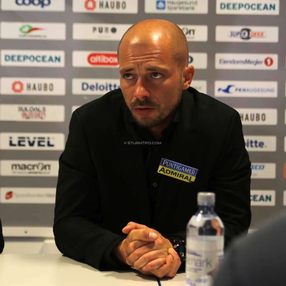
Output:
[[[72,114],[59,159],[55,241],[99,270],[131,266],[172,277],[199,191],[216,193],[226,243],[249,227],[251,163],[241,120],[190,87],[188,44],[173,23],[133,25],[118,60],[121,89]]]

